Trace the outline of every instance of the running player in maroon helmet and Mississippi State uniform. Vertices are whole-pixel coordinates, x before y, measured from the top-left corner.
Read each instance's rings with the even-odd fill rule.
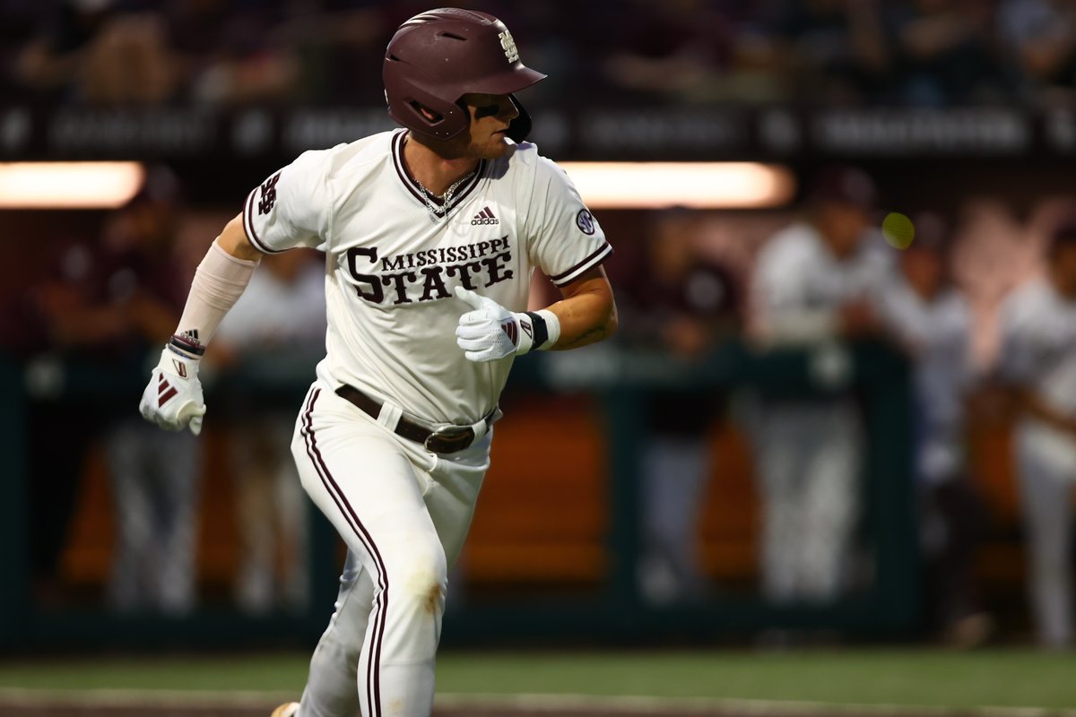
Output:
[[[617,327],[611,248],[532,144],[525,67],[497,18],[416,15],[388,43],[405,129],[307,152],[255,187],[209,249],[142,414],[198,432],[198,360],[258,257],[325,253],[328,330],[292,443],[308,494],[349,547],[300,703],[277,717],[429,715],[447,574],[490,465],[515,356]],[[563,300],[527,312],[532,272]]]

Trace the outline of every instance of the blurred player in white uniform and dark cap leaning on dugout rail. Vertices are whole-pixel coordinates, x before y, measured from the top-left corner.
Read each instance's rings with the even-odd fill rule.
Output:
[[[840,342],[879,335],[878,291],[888,257],[869,241],[875,186],[831,168],[816,181],[806,220],[763,246],[752,282],[755,336],[813,349],[812,376],[832,398],[760,397],[753,426],[763,499],[762,576],[777,603],[830,602],[846,587],[860,513],[861,417],[840,389]]]

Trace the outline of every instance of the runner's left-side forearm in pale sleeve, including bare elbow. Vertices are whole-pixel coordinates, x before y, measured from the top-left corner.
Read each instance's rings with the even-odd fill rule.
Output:
[[[229,221],[198,264],[175,335],[188,336],[196,347],[207,345],[246,289],[260,257],[246,239],[242,217]]]

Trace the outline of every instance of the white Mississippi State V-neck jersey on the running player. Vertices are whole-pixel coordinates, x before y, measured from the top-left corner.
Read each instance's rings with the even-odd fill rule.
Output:
[[[405,171],[406,134],[300,155],[251,192],[243,225],[263,252],[325,253],[321,379],[428,424],[472,424],[496,406],[512,361],[464,357],[455,329],[469,307],[453,288],[521,312],[535,268],[565,286],[612,248],[564,171],[532,144],[482,161],[435,219]]]

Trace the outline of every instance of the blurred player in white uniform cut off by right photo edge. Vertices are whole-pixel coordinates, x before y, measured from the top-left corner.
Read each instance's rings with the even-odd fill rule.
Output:
[[[1046,275],[1002,306],[1003,379],[1016,389],[1016,461],[1032,613],[1044,645],[1073,642],[1072,490],[1076,483],[1076,223],[1053,234]]]

